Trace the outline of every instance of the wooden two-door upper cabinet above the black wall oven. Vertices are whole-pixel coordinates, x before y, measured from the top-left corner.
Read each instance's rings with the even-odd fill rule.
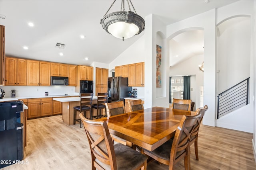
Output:
[[[81,65],[77,66],[77,77],[78,77],[78,81],[80,80],[93,81],[93,67],[81,66]]]

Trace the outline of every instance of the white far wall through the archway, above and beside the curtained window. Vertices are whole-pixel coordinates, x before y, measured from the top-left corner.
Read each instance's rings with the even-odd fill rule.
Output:
[[[194,57],[190,57],[186,61],[182,63],[176,64],[175,66],[170,67],[170,76],[186,76],[192,75],[190,77],[190,88],[193,88],[193,91],[190,91],[190,98],[193,102],[195,102],[194,109],[198,108],[199,103],[199,94],[200,89],[199,86],[204,85],[204,72],[199,70],[198,65],[202,63],[204,60],[203,55],[197,55]]]

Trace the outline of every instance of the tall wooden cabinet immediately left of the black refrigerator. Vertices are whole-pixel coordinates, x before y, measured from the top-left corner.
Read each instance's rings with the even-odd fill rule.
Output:
[[[108,69],[107,68],[96,67],[95,83],[96,83],[95,96],[98,96],[98,93],[108,92]]]

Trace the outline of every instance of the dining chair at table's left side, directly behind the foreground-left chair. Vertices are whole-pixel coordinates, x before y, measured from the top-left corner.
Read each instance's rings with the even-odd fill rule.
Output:
[[[107,103],[107,107],[108,107],[108,115],[107,115],[108,117],[125,113],[123,101]],[[112,135],[112,138],[114,141],[116,141],[118,143],[127,145],[126,140],[124,140],[116,135]]]

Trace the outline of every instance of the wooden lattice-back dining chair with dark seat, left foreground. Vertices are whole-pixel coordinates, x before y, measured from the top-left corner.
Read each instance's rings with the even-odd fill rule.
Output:
[[[146,170],[148,157],[120,143],[114,145],[106,121],[79,116],[90,145],[92,170]]]

